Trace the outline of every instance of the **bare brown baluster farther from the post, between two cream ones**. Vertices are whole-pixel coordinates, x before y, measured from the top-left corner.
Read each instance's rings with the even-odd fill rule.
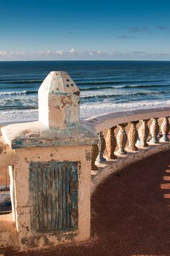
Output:
[[[128,132],[128,148],[131,150],[131,151],[137,151],[138,148],[136,148],[135,144],[136,144],[136,141],[138,139],[138,132],[137,132],[137,129],[136,129],[136,124],[138,123],[138,121],[131,121],[129,124],[130,124],[130,129],[129,129],[129,132]]]

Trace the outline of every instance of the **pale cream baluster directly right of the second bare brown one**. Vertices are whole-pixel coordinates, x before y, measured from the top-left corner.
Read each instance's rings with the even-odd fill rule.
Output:
[[[147,147],[148,146],[147,138],[150,135],[150,129],[148,127],[147,122],[149,120],[150,119],[140,120],[141,125],[139,127],[138,133],[139,133],[139,140],[140,140],[139,146],[142,146],[142,147]]]

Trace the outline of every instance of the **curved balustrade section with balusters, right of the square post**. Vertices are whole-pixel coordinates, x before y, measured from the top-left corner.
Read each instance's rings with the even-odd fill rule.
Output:
[[[104,157],[107,158],[107,162],[99,162],[96,159],[98,170],[96,168],[95,170],[97,171],[92,172],[91,193],[93,193],[98,184],[104,181],[109,174],[120,171],[125,166],[144,157],[149,157],[159,151],[169,150],[170,143],[168,135],[170,125],[169,118],[167,117],[170,116],[169,114],[169,108],[131,110],[94,116],[86,120],[90,127],[96,129],[96,132],[108,130],[106,136],[108,149],[105,155],[103,152]],[[159,134],[159,118],[162,118],[161,134]],[[149,127],[148,123],[150,120],[152,120],[152,124]],[[128,140],[125,130],[127,124]],[[115,137],[116,126],[119,129]],[[102,142],[105,144],[104,137],[102,138]],[[100,148],[102,148],[101,145]],[[117,157],[112,157],[114,155]]]

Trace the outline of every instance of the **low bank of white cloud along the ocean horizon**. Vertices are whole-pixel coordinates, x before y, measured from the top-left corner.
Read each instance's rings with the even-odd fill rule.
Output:
[[[170,53],[153,53],[151,51],[110,51],[104,52],[101,50],[84,50],[76,51],[72,48],[70,51],[63,50],[47,50],[37,51],[33,53],[25,52],[8,52],[7,50],[0,50],[0,60],[170,60]]]

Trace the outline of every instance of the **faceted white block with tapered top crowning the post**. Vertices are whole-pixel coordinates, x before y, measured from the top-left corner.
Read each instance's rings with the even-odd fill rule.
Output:
[[[80,90],[67,72],[50,72],[39,87],[39,121],[49,128],[75,127],[80,120]]]

